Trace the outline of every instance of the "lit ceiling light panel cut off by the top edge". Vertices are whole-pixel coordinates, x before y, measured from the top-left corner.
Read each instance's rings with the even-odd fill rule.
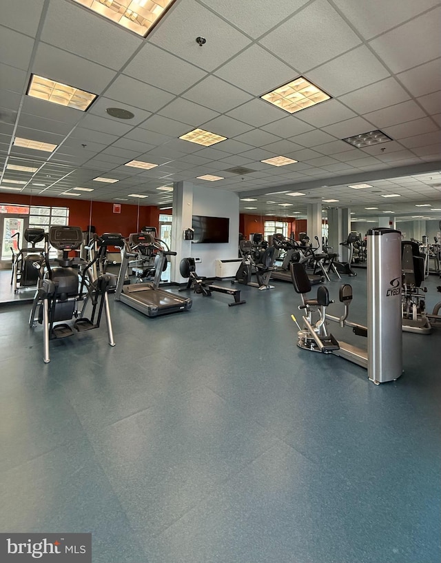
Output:
[[[74,0],[93,12],[146,37],[174,0]]]

